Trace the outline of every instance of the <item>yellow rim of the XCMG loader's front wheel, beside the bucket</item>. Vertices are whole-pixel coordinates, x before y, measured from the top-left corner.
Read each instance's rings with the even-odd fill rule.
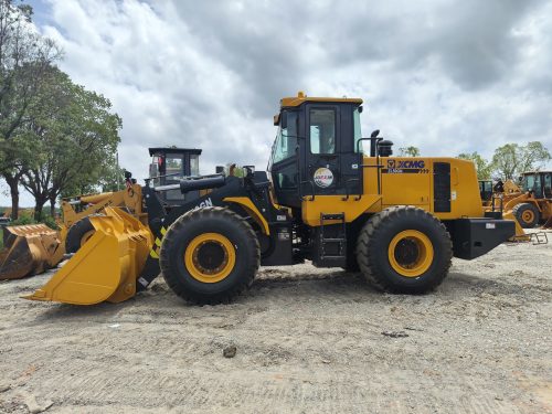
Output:
[[[236,263],[236,251],[230,240],[219,233],[203,233],[185,248],[184,265],[190,275],[213,284],[230,275]]]

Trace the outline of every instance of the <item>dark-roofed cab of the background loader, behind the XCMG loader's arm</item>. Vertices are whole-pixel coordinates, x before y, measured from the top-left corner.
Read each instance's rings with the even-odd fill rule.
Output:
[[[200,173],[199,157],[201,149],[197,148],[149,148],[152,157],[149,166],[149,178],[153,187],[179,184],[184,177]],[[166,205],[181,205],[184,200],[199,197],[199,191],[182,193],[180,190],[169,190],[159,193]]]

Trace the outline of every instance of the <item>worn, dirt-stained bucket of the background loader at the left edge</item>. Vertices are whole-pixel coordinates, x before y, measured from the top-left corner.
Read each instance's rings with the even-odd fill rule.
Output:
[[[60,234],[44,224],[4,227],[0,279],[19,279],[56,266],[65,253]]]

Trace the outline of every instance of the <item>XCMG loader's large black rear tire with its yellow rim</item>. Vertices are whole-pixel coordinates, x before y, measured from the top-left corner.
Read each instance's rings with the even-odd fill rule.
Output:
[[[421,247],[418,240],[425,240],[427,247],[423,242]],[[357,242],[357,259],[367,280],[380,290],[395,294],[433,290],[448,274],[452,257],[453,245],[446,227],[415,206],[392,206],[374,214],[364,224]],[[404,261],[407,263],[403,265]],[[413,270],[408,268],[412,261],[415,261]],[[408,274],[416,269],[421,272],[418,275]]]

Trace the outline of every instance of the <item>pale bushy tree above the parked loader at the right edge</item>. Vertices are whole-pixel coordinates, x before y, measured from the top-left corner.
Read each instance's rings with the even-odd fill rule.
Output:
[[[493,173],[502,181],[517,180],[522,172],[539,170],[551,159],[549,150],[540,141],[524,146],[507,144],[495,150]]]

